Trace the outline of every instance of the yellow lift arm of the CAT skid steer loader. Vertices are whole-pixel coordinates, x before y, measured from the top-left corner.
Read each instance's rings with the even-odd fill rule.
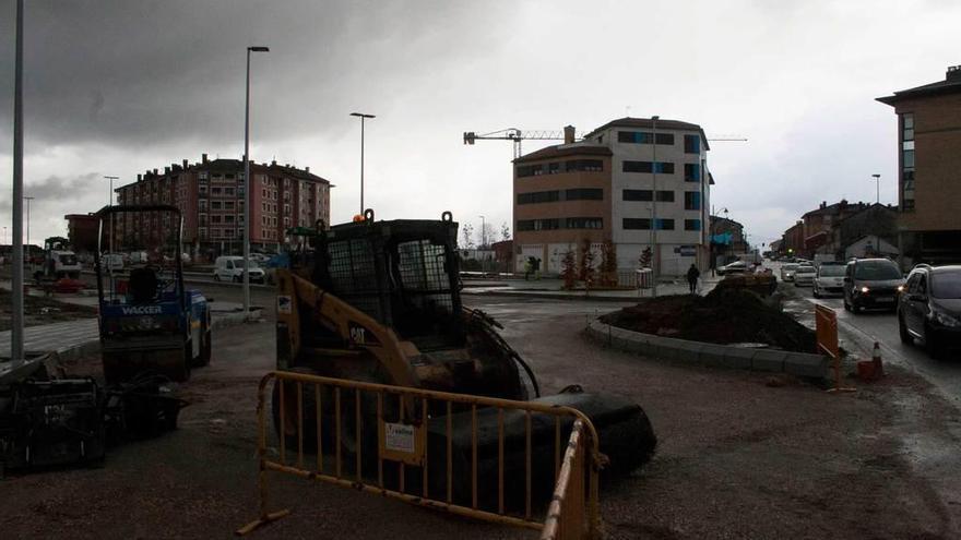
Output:
[[[417,347],[401,341],[398,335],[370,315],[327,292],[311,281],[288,269],[278,268],[277,321],[286,324],[292,357],[302,346],[299,307],[310,307],[316,320],[336,333],[348,349],[368,350],[390,376],[388,384],[419,387],[410,358],[417,356]],[[285,302],[289,304],[284,305]]]

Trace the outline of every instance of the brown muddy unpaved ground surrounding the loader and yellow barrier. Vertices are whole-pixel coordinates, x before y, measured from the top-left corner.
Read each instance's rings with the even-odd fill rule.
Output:
[[[957,448],[957,411],[894,372],[830,395],[793,380],[684,368],[585,340],[609,303],[485,299],[548,393],[578,383],[628,396],[654,424],[653,461],[601,494],[612,539],[961,536],[961,497],[939,497],[906,442]],[[256,516],[254,395],[273,364],[273,327],[215,335],[214,359],[185,386],[180,429],[108,454],[103,468],[0,481],[8,538],[227,538]],[[94,363],[95,367],[95,363]],[[772,384],[775,383],[775,384]],[[916,403],[916,416],[900,404]],[[272,508],[293,514],[251,538],[532,538],[343,488],[271,477]]]

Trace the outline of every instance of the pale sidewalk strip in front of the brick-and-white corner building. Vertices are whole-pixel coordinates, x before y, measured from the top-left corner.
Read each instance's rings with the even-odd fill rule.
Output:
[[[721,276],[702,276],[701,295],[707,295],[722,279]],[[467,279],[464,280],[464,296],[503,296],[503,297],[536,297],[551,299],[580,299],[580,300],[608,300],[630,302],[638,298],[651,297],[651,289],[616,289],[590,291],[583,288],[563,290],[563,280],[556,278],[546,279]],[[579,284],[582,287],[582,284]],[[662,280],[657,284],[657,296],[687,295],[689,292],[687,281],[684,278],[676,280]]]

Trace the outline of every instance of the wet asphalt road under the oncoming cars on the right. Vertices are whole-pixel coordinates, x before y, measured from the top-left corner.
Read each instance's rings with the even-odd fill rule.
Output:
[[[779,275],[778,263],[770,264]],[[780,279],[780,277],[779,277]],[[920,343],[902,344],[898,334],[898,316],[889,311],[844,311],[841,297],[815,299],[810,287],[796,287],[805,299],[833,309],[838,313],[842,347],[854,350],[862,358],[870,358],[874,341],[878,341],[885,362],[903,367],[924,377],[938,388],[956,407],[961,406],[961,357],[934,360]],[[844,343],[846,341],[846,344]]]

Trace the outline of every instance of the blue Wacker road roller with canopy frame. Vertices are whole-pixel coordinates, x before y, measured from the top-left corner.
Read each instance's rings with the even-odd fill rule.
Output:
[[[198,290],[183,287],[180,211],[168,205],[102,211],[96,257],[99,332],[107,382],[143,373],[182,382],[211,358],[211,313]],[[146,253],[121,267],[122,253]]]

